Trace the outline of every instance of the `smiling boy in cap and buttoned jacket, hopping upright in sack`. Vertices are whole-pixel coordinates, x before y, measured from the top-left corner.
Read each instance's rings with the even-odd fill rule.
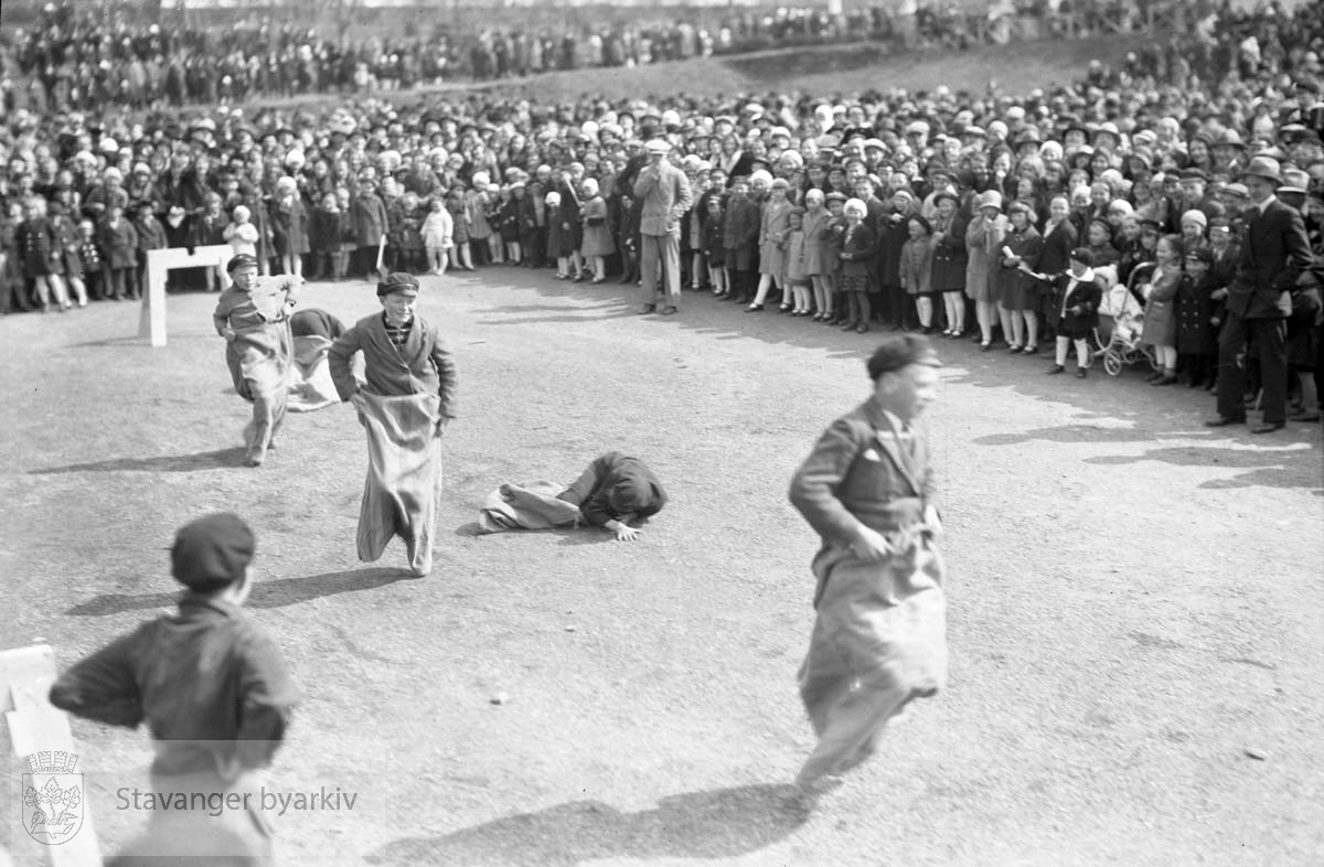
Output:
[[[368,432],[359,559],[376,561],[400,536],[409,569],[424,576],[432,570],[441,434],[455,414],[455,363],[437,328],[414,312],[418,278],[384,275],[377,299],[381,312],[355,323],[327,355],[340,400],[354,402]],[[357,352],[363,383],[354,375]]]

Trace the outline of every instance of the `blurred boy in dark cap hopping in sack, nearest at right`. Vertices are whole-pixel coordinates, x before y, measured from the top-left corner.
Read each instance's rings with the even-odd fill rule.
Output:
[[[818,531],[818,580],[800,696],[818,735],[796,785],[812,793],[876,749],[911,699],[947,683],[943,559],[928,432],[941,361],[899,335],[869,359],[873,392],[822,434],[790,483]]]

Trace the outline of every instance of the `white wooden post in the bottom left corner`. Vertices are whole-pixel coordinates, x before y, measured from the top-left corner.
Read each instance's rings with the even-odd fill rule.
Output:
[[[0,781],[0,785],[9,793],[17,793],[17,798],[0,798],[13,807],[7,807],[5,815],[0,821],[21,822],[24,797],[24,778],[28,773],[28,756],[38,753],[66,753],[74,754],[74,736],[69,731],[69,717],[64,711],[54,708],[46,700],[50,684],[56,682],[56,654],[49,645],[33,645],[32,647],[15,647],[13,650],[0,650],[0,711],[4,711],[4,733],[8,737],[9,748],[16,760],[12,762],[13,778]],[[91,822],[91,802],[87,798],[85,765],[75,757],[74,765],[77,785],[81,793],[81,805],[74,807],[82,814],[82,825],[58,844],[48,844],[24,830],[16,829],[9,834],[11,855],[16,863],[49,863],[54,867],[101,867],[101,848],[97,846],[97,831]],[[44,774],[49,777],[49,774]],[[70,774],[61,774],[66,784],[73,781]],[[65,786],[68,788],[68,785]],[[11,811],[12,810],[12,811]],[[12,825],[11,825],[12,827]]]

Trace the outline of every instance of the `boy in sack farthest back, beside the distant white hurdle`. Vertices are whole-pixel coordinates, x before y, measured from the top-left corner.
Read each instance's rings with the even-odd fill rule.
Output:
[[[275,447],[275,432],[285,421],[290,383],[290,310],[303,282],[298,277],[258,277],[257,258],[240,253],[225,270],[230,287],[216,300],[212,319],[225,338],[225,364],[234,390],[253,404],[253,421],[244,428],[249,466],[261,466]]]

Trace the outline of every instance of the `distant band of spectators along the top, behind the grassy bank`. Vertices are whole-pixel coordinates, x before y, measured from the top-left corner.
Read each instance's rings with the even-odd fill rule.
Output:
[[[1113,8],[1116,7],[1116,8]],[[710,54],[873,40],[963,49],[1033,33],[1072,36],[1136,29],[1128,4],[1006,3],[972,16],[923,4],[900,16],[891,7],[829,15],[813,7],[692,9],[691,20],[630,17],[552,26],[441,29],[426,36],[332,38],[270,17],[208,26],[164,26],[130,8],[48,5],[32,26],[0,34],[0,99],[44,114],[128,105],[228,105],[314,93],[410,90],[454,79],[499,79],[567,69],[638,66]],[[1071,25],[1063,23],[1070,19]],[[1266,46],[1266,50],[1274,50]],[[1161,52],[1155,53],[1161,58]]]

